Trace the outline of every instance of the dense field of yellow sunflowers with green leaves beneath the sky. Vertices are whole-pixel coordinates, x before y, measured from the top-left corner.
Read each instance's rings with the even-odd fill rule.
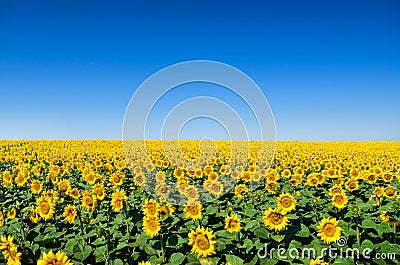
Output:
[[[182,158],[158,141],[128,154],[118,141],[0,141],[0,263],[396,263],[276,251],[400,253],[400,143],[278,142],[269,161],[251,142],[245,164],[229,142],[198,145],[181,141]]]

